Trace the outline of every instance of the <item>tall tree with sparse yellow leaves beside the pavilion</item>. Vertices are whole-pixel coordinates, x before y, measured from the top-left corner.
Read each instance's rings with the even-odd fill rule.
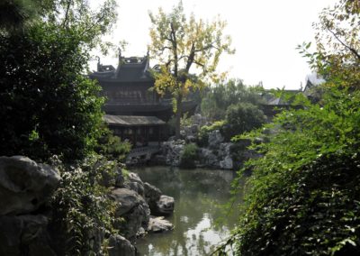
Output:
[[[175,136],[180,137],[182,102],[191,88],[202,88],[206,79],[216,80],[220,56],[233,53],[230,37],[223,35],[226,23],[217,20],[205,23],[186,18],[182,2],[170,14],[160,8],[149,14],[151,44],[149,50],[160,65],[154,72],[155,89],[160,95],[172,94],[175,108]],[[192,76],[196,73],[196,78]]]

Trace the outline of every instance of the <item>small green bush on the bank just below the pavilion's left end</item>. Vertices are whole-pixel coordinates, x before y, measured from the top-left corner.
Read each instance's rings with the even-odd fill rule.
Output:
[[[103,128],[103,134],[98,139],[95,151],[109,160],[123,160],[131,150],[129,142],[121,142],[121,138],[112,134],[112,131]]]

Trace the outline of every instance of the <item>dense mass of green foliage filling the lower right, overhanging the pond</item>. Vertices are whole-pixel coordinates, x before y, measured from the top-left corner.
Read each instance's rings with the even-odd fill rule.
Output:
[[[263,156],[245,168],[253,172],[246,210],[228,241],[236,254],[360,253],[360,91],[324,90],[321,104],[242,136]]]

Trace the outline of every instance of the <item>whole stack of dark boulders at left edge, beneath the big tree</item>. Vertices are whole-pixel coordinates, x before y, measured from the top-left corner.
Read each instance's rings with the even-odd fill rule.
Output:
[[[58,170],[22,156],[0,157],[0,255],[57,255],[49,217],[39,212],[58,187]]]

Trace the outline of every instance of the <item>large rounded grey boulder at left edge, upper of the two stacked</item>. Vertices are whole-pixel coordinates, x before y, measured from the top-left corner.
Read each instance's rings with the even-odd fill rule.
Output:
[[[48,202],[58,170],[22,156],[0,157],[0,215],[27,214]]]

